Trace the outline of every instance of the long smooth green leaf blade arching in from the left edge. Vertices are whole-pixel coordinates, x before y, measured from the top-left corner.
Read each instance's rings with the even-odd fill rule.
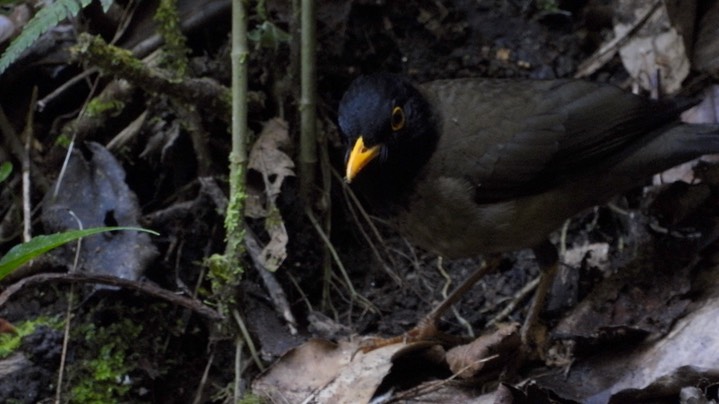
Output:
[[[92,229],[71,230],[63,233],[36,236],[30,239],[27,243],[18,244],[11,248],[4,257],[0,258],[0,279],[6,277],[22,264],[30,261],[38,255],[60,247],[63,244],[93,234],[115,230],[144,231],[156,236],[159,235],[159,233],[155,231],[139,227],[94,227]]]

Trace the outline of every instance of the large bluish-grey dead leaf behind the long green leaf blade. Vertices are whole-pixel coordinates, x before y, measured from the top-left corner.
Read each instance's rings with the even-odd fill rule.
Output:
[[[97,143],[88,142],[72,151],[60,192],[45,197],[42,223],[47,233],[103,226],[139,225],[137,197],[125,183],[120,162]],[[72,267],[75,245],[58,249],[62,260]],[[82,241],[79,267],[125,279],[138,279],[157,256],[157,249],[145,233],[134,231],[98,234]]]

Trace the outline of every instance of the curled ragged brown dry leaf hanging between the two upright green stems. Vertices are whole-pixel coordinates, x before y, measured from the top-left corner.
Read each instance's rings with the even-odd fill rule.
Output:
[[[270,271],[277,270],[287,257],[287,229],[275,201],[285,179],[295,175],[295,164],[283,151],[290,144],[287,122],[274,118],[265,124],[250,152],[249,168],[262,176],[263,191],[250,188],[245,215],[265,219],[270,241],[263,248],[260,259]]]

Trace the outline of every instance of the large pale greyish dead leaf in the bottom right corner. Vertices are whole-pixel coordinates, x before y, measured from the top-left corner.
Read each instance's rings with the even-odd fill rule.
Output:
[[[666,337],[630,350],[616,345],[613,352],[576,361],[568,371],[540,377],[538,383],[565,399],[596,403],[666,402],[676,400],[685,386],[717,383],[719,282],[713,278],[699,307]]]

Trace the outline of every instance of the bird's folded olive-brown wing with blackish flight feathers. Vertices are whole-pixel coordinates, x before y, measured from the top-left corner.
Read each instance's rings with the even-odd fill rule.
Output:
[[[429,175],[465,178],[479,203],[535,194],[600,170],[683,109],[580,80],[463,79],[423,89],[442,130]]]

